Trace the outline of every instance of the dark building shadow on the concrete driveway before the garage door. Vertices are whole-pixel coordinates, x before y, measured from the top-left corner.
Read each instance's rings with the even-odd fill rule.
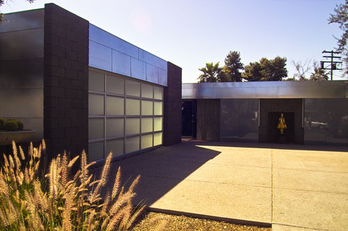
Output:
[[[116,160],[111,162],[106,188],[109,188],[109,191],[112,190],[118,166],[120,166],[121,185],[125,185],[126,189],[136,176],[141,175],[135,189],[137,195],[134,203],[137,204],[143,200],[150,206],[219,153],[219,151],[198,147],[194,142],[182,142],[124,160]],[[97,178],[100,176],[100,171],[102,166],[92,170],[94,174],[97,174]],[[102,191],[102,194],[106,194],[106,190]]]

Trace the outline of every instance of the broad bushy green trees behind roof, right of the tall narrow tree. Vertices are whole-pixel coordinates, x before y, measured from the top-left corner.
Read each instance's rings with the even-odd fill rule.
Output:
[[[286,58],[277,56],[273,60],[261,58],[260,62],[250,62],[244,68],[242,78],[247,81],[281,81],[287,77]]]

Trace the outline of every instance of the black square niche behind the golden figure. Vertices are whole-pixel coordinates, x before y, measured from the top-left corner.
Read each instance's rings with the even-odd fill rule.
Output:
[[[284,134],[280,134],[277,128],[280,115],[283,113],[287,128]],[[269,112],[268,114],[268,142],[271,143],[294,143],[294,112]]]

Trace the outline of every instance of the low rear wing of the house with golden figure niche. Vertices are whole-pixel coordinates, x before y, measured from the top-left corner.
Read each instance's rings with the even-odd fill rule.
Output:
[[[348,81],[182,84],[182,135],[348,145]],[[281,114],[287,128],[277,128]]]

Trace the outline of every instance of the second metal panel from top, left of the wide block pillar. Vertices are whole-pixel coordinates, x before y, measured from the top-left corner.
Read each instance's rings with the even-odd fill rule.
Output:
[[[0,60],[43,58],[43,49],[43,28],[0,34]]]

